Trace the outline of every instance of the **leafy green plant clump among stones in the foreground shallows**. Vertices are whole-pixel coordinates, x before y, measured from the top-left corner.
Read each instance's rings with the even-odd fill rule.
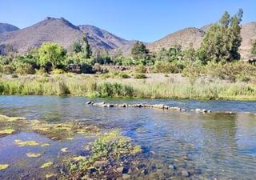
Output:
[[[122,136],[119,130],[113,130],[98,137],[89,151],[88,157],[70,158],[63,167],[62,179],[99,178],[101,174],[113,176],[114,169],[124,159],[142,152],[142,149],[140,146],[133,146],[131,139]]]

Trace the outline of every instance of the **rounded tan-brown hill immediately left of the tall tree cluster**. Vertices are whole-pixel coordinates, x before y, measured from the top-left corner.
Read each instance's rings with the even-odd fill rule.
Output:
[[[164,38],[159,39],[158,41],[152,42],[148,44],[148,48],[150,51],[158,51],[162,50],[162,48],[168,49],[170,46],[181,45],[182,49],[186,49],[193,45],[195,49],[200,46],[202,42],[202,38],[206,33],[203,30],[198,28],[186,28],[184,30],[179,30],[174,32],[173,34],[169,34]]]

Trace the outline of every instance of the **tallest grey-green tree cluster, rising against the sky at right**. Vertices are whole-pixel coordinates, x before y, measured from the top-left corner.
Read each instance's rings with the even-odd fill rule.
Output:
[[[242,9],[238,10],[238,14],[232,18],[225,12],[219,20],[220,24],[215,23],[210,26],[200,47],[199,55],[203,63],[233,62],[240,58],[238,49],[242,42],[239,25],[241,21]]]

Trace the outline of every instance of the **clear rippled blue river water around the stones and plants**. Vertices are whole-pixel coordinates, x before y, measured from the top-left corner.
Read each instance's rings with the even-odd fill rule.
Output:
[[[26,117],[46,122],[79,121],[104,129],[121,128],[122,133],[142,146],[143,157],[156,162],[161,179],[187,170],[188,179],[256,179],[256,102],[191,101],[169,99],[93,99],[95,102],[164,103],[180,106],[185,112],[137,108],[102,108],[86,106],[88,98],[0,96],[0,114]],[[202,108],[211,114],[197,114]],[[226,113],[232,111],[232,114]],[[0,127],[1,128],[1,127]],[[48,142],[48,147],[15,145],[15,139]],[[58,163],[66,154],[83,154],[92,139],[77,134],[74,140],[52,140],[27,130],[0,136],[1,179],[33,179],[46,174],[39,167],[44,162]],[[68,147],[69,152],[60,153]],[[27,158],[26,153],[42,153]],[[58,157],[58,158],[57,158]],[[168,166],[174,165],[176,170]],[[49,170],[48,170],[49,171]],[[58,167],[51,168],[52,173]],[[141,176],[141,175],[140,175]],[[175,178],[183,179],[182,175]]]

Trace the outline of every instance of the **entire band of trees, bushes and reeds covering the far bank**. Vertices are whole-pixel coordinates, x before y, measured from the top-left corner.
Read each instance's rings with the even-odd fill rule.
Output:
[[[230,17],[225,12],[198,50],[193,44],[187,49],[177,44],[151,53],[143,42],[136,42],[130,55],[117,50],[110,56],[107,50],[92,52],[85,35],[69,52],[50,42],[26,54],[7,46],[5,56],[0,56],[0,94],[256,99],[255,66],[239,61],[242,14],[238,10]],[[251,54],[256,54],[254,41]],[[160,79],[146,73],[168,75]]]

